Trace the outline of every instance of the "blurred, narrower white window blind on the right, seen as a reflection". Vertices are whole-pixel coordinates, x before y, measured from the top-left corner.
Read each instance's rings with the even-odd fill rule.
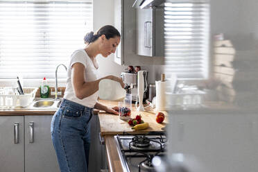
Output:
[[[208,0],[166,0],[164,38],[166,74],[181,79],[208,77]]]

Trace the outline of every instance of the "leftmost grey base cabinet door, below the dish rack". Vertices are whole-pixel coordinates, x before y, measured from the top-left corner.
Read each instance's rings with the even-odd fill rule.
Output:
[[[0,171],[24,172],[24,117],[22,116],[0,117]]]

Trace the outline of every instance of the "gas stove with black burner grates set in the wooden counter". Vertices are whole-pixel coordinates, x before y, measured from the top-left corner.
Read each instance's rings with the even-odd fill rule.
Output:
[[[124,172],[155,171],[153,157],[166,155],[166,135],[163,132],[116,135],[114,139]]]

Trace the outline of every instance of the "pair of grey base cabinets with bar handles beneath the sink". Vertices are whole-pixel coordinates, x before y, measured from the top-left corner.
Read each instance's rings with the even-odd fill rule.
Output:
[[[0,117],[0,171],[60,171],[51,141],[51,119],[52,115]]]

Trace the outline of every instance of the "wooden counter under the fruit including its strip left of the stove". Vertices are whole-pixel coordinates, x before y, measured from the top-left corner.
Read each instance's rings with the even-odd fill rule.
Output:
[[[100,101],[101,103],[109,106],[114,107],[118,106],[118,102],[115,101]],[[146,134],[151,131],[164,131],[164,127],[166,123],[168,123],[167,113],[165,114],[165,119],[163,123],[157,123],[155,121],[155,112],[150,108],[146,108],[146,112],[135,112],[135,106],[132,105],[132,114],[131,117],[134,118],[137,114],[141,114],[141,119],[144,122],[149,123],[149,128],[145,130],[132,130],[127,121],[123,121],[119,119],[119,116],[114,114],[108,114],[106,112],[98,112],[98,119],[100,121],[101,126],[101,135],[105,139],[105,148],[107,152],[107,164],[108,170],[110,172],[121,172],[123,171],[123,167],[121,166],[121,161],[119,158],[119,154],[117,151],[117,144],[114,140],[114,135],[122,135],[123,133],[130,133],[130,134]]]

